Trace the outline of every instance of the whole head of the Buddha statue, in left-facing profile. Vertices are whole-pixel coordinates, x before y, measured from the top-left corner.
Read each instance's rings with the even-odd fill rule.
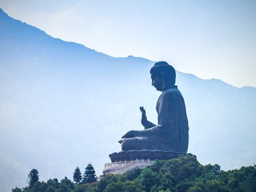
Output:
[[[152,86],[158,91],[171,88],[175,84],[176,72],[166,61],[159,61],[150,69]]]

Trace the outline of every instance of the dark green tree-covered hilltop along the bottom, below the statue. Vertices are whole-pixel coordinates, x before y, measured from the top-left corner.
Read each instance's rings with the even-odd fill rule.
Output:
[[[92,164],[86,170],[94,171]],[[95,177],[95,172],[92,173]],[[75,171],[76,172],[76,171]],[[87,178],[88,176],[86,176]],[[256,191],[256,169],[253,166],[239,170],[220,170],[218,164],[203,166],[195,156],[180,156],[168,161],[156,161],[144,170],[134,170],[124,175],[103,175],[99,182],[79,184],[74,180],[49,179],[36,181],[31,188],[15,188],[13,192],[211,192]]]

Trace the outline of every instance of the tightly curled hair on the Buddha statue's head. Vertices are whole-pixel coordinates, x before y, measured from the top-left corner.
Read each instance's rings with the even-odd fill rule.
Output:
[[[159,76],[163,73],[165,81],[168,84],[175,84],[176,72],[172,65],[169,65],[166,61],[159,61],[150,69],[150,74],[154,76]]]

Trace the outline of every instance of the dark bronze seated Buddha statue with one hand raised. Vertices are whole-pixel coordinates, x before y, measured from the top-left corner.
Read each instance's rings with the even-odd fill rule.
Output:
[[[129,131],[119,143],[123,151],[164,150],[185,153],[188,150],[188,118],[184,99],[175,86],[175,69],[165,61],[159,61],[150,69],[152,86],[162,92],[156,104],[158,124],[147,120],[141,110],[144,130]]]

